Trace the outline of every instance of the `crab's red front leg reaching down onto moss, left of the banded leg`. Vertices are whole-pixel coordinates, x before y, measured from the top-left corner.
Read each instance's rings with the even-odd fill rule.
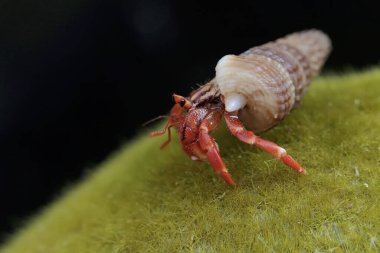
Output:
[[[219,154],[218,146],[215,140],[210,136],[210,132],[219,124],[221,117],[222,113],[215,111],[208,114],[203,120],[199,127],[199,145],[206,153],[207,160],[216,173],[220,174],[229,185],[235,186],[235,183]]]

